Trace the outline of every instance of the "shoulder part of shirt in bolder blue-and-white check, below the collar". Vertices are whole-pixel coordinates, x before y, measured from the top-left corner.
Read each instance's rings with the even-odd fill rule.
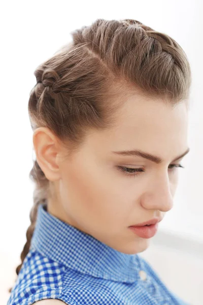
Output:
[[[17,281],[11,291],[8,305],[31,304],[41,301],[43,305],[45,300],[59,302],[62,293],[63,277],[65,268],[37,251],[30,249],[21,266]],[[49,299],[50,295],[53,299]],[[42,299],[44,297],[44,299]],[[45,297],[47,297],[45,299]],[[40,300],[40,298],[42,300]]]

